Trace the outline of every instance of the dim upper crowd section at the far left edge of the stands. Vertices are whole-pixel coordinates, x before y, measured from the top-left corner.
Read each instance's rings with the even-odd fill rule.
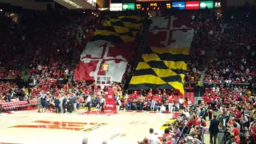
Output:
[[[11,18],[1,17],[0,21],[0,79],[20,78],[22,36]]]

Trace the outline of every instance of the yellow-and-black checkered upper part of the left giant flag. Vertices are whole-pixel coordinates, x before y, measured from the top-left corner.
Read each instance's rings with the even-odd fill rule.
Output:
[[[106,20],[102,28],[96,30],[90,42],[106,40],[109,42],[134,42],[142,26],[143,18],[138,16],[120,16],[118,19]]]

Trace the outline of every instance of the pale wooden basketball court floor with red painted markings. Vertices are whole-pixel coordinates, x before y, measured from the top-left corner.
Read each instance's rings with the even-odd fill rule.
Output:
[[[130,144],[149,135],[149,129],[162,133],[166,122],[178,114],[122,111],[120,114],[106,111],[73,114],[38,113],[37,110],[10,111],[0,114],[0,143],[89,143],[100,144],[106,139],[110,144]]]

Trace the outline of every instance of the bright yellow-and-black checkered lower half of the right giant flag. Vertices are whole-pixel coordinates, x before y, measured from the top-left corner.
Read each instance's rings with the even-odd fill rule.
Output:
[[[130,80],[129,89],[177,89],[184,94],[189,54],[190,48],[147,47]]]

